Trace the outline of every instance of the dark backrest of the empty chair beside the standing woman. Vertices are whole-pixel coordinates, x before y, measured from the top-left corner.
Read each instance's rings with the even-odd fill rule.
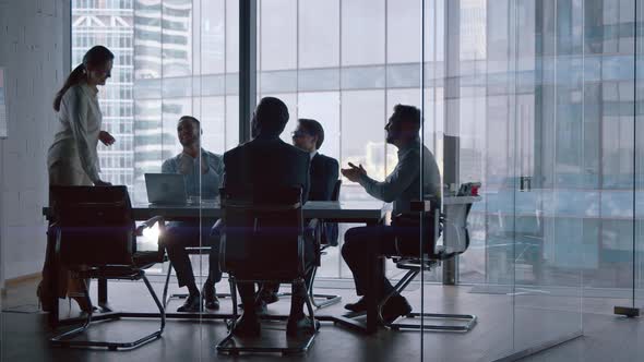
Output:
[[[136,249],[126,186],[51,186],[59,255],[68,267],[131,265]]]

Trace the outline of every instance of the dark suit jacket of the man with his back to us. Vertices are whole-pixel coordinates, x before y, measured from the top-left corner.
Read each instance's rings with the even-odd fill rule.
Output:
[[[278,137],[258,136],[224,154],[224,186],[248,186],[271,192],[301,186],[309,197],[309,154]]]

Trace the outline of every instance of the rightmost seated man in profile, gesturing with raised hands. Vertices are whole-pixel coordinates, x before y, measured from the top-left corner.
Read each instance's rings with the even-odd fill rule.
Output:
[[[440,172],[432,153],[421,145],[418,133],[420,131],[420,110],[413,106],[397,105],[389,119],[386,126],[386,142],[398,148],[398,164],[382,182],[367,176],[367,171],[349,164],[342,173],[353,182],[358,182],[371,196],[391,203],[393,202],[394,222],[392,226],[360,227],[349,229],[345,234],[342,255],[354,274],[356,292],[365,295],[369,282],[369,263],[377,255],[396,255],[395,240],[399,240],[399,249],[405,254],[419,254],[419,227],[415,225],[396,224],[396,217],[410,212],[410,202],[420,200],[420,159],[425,154],[424,185],[426,195],[440,200]],[[397,218],[399,219],[399,218]],[[389,294],[393,287],[384,274],[378,276],[383,280],[379,286],[381,293],[375,295],[380,302]],[[357,303],[345,307],[353,312],[367,310],[367,301],[361,298]],[[392,322],[398,316],[407,315],[412,306],[401,294],[392,295],[383,307],[383,318]]]

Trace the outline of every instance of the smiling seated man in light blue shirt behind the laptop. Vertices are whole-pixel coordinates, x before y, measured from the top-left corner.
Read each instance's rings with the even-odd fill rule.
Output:
[[[222,156],[201,148],[202,129],[194,117],[183,116],[177,124],[177,135],[182,152],[164,161],[163,173],[181,173],[186,178],[188,196],[215,198],[219,193],[219,184],[224,173]],[[202,224],[202,225],[200,225]],[[194,274],[187,246],[208,245],[212,248],[208,263],[208,277],[203,286],[203,298],[207,309],[218,309],[219,301],[215,292],[215,283],[222,280],[218,263],[218,240],[210,237],[210,222],[171,221],[163,234],[163,242],[172,262],[179,287],[188,287],[189,295],[178,312],[196,312],[201,309],[201,293],[194,281]]]

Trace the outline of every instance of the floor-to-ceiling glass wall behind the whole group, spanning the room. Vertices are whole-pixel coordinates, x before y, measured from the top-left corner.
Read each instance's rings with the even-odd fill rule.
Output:
[[[580,335],[583,312],[644,301],[636,142],[644,128],[634,122],[642,8],[637,0],[257,2],[255,93],[288,106],[284,141],[298,118],[315,119],[325,132],[320,153],[384,180],[397,164],[384,125],[395,105],[412,105],[422,111],[421,146],[441,172],[442,212],[461,184],[480,183],[467,250],[403,292],[415,311],[478,322],[466,334],[391,331],[414,357],[520,357]],[[208,152],[243,141],[238,1],[74,0],[71,34],[73,67],[96,44],[116,55],[99,98],[117,143],[102,146],[100,166],[134,203],[148,202],[144,174],[181,154],[181,116],[200,120]],[[372,200],[342,180],[341,201]],[[200,205],[210,197],[202,191],[193,195]],[[200,215],[201,232],[214,220]],[[326,251],[315,281],[339,288],[343,303],[356,298],[339,252],[355,226],[339,226],[339,245]],[[196,251],[191,262],[201,288],[208,257]],[[155,270],[159,282],[168,269]],[[393,282],[404,273],[386,262]],[[175,292],[186,288],[172,278]],[[171,299],[169,312],[181,303]]]

